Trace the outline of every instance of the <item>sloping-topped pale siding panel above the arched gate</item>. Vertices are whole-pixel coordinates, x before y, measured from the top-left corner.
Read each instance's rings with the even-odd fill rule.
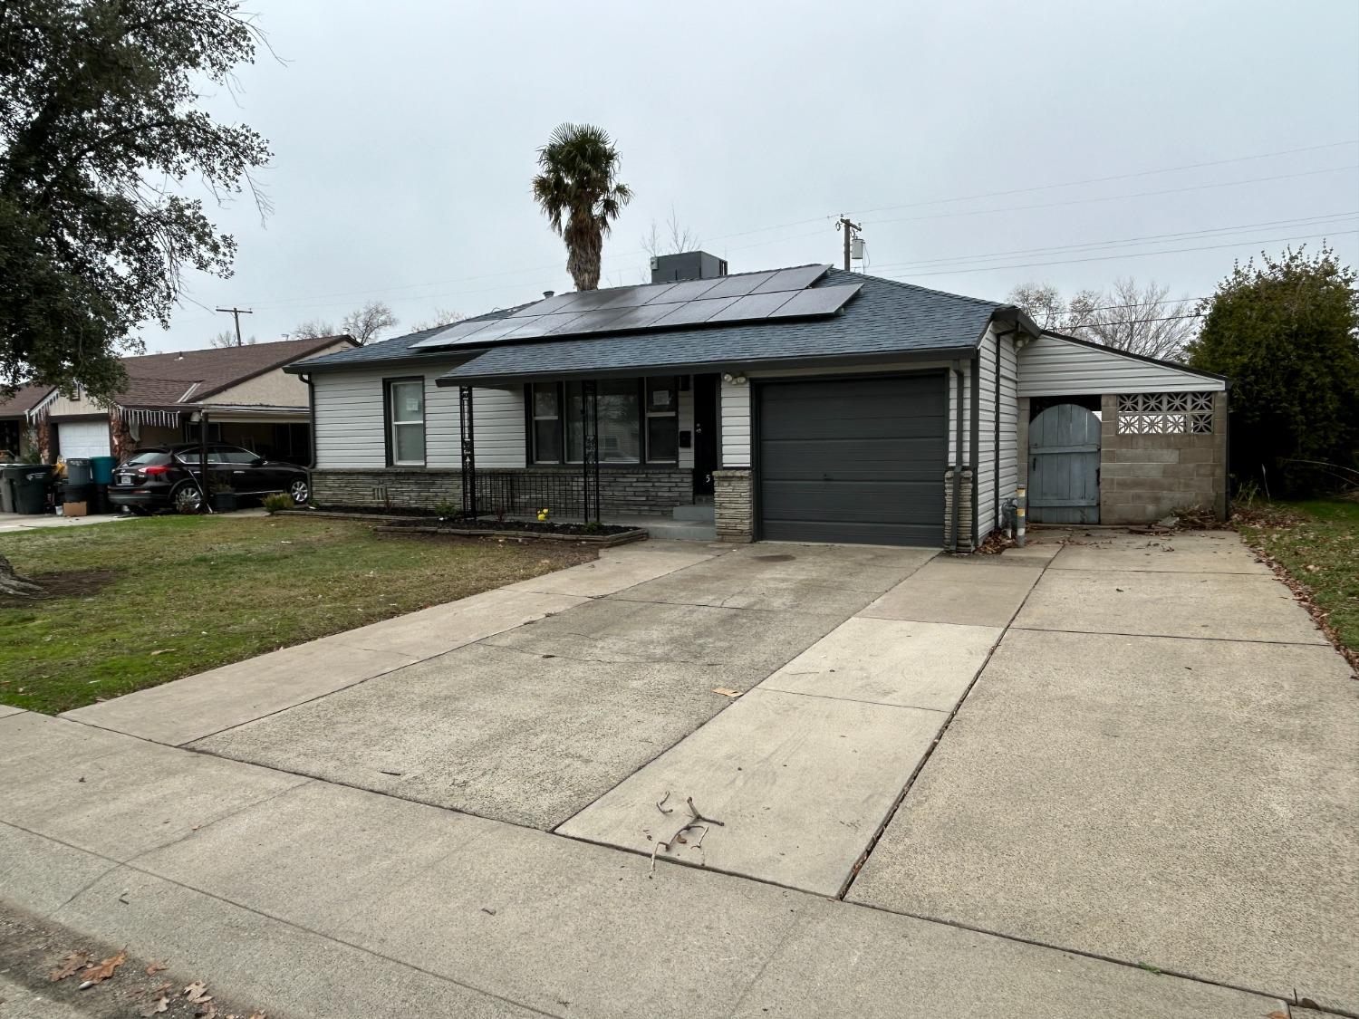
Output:
[[[1220,379],[1042,336],[1019,351],[1021,397],[1076,397],[1099,393],[1204,393]]]

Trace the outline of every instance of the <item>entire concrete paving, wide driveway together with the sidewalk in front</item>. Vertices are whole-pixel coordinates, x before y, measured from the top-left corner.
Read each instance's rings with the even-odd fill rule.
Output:
[[[0,717],[0,898],[285,1014],[1356,1012],[1356,689],[1229,533],[647,542]]]

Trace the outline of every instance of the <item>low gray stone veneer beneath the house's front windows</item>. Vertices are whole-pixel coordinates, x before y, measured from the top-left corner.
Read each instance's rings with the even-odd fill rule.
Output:
[[[496,467],[478,474],[561,474],[576,482],[579,467]],[[318,505],[401,507],[432,510],[440,503],[462,505],[462,471],[421,467],[376,467],[311,471],[313,499]],[[693,474],[665,467],[601,467],[599,501],[610,514],[669,514],[693,503]]]

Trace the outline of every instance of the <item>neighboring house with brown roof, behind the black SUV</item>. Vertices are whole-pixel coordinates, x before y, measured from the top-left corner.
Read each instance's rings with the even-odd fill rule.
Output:
[[[306,463],[311,455],[308,393],[283,367],[353,346],[347,336],[328,336],[124,357],[128,386],[109,404],[79,390],[68,397],[49,387],[27,416],[48,459],[122,458],[139,446],[197,439],[205,416],[209,440]]]

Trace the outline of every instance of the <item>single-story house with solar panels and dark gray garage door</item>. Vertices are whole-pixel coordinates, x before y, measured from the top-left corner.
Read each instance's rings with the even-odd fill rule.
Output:
[[[1012,306],[824,265],[724,268],[667,255],[665,283],[289,365],[313,387],[317,501],[712,504],[727,541],[949,548],[976,546],[1025,482],[1033,520],[1226,511],[1215,375],[1044,333]]]

